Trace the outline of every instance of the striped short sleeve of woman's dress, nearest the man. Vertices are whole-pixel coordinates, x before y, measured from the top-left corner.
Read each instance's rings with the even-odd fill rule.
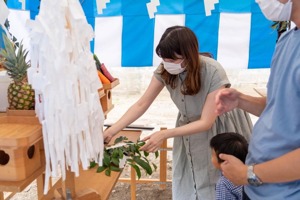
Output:
[[[214,68],[214,72],[211,77],[210,87],[208,93],[211,93],[219,89],[222,85],[226,85],[226,88],[230,88],[231,84],[227,78],[226,72],[223,67],[218,66]]]

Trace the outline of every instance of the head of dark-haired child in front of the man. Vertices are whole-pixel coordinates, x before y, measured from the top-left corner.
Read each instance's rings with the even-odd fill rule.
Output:
[[[238,133],[222,133],[211,138],[211,162],[219,170],[224,162],[219,154],[228,154],[237,157],[245,163],[248,154],[248,142]]]

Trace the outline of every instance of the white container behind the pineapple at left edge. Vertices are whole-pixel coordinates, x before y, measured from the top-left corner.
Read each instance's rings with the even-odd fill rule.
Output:
[[[12,79],[6,75],[6,71],[0,71],[0,112],[6,112],[8,107],[7,88],[11,82]]]

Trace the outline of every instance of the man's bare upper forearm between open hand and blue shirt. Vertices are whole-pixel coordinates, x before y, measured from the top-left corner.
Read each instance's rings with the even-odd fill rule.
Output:
[[[239,93],[238,108],[251,113],[257,117],[260,116],[265,109],[266,97],[252,97]]]

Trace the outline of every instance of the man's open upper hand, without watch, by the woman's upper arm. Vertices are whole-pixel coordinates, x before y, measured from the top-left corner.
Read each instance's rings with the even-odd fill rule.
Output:
[[[225,112],[229,112],[232,109],[238,107],[239,92],[232,88],[225,88],[215,96],[215,103],[217,104],[217,115],[223,115]]]

